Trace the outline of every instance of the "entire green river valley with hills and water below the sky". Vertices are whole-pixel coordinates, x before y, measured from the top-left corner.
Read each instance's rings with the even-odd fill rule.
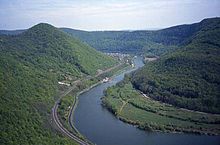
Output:
[[[220,18],[2,30],[0,144],[218,144],[219,54]]]

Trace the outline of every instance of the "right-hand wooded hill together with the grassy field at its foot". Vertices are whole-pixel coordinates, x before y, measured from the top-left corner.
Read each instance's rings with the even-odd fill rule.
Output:
[[[108,88],[103,105],[144,130],[219,135],[220,18],[196,25],[176,51]]]

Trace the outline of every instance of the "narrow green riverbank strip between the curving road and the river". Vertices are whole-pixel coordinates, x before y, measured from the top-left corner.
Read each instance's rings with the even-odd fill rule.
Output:
[[[73,84],[74,88],[71,92],[68,93],[68,96],[64,96],[61,98],[58,107],[58,117],[61,120],[63,126],[80,139],[92,144],[89,140],[87,140],[83,135],[80,134],[80,132],[71,122],[72,115],[74,114],[74,110],[77,107],[78,96],[102,83],[102,79],[104,77],[112,77],[120,71],[128,69],[129,67],[129,64],[120,63],[117,66],[103,71],[103,73],[100,73],[95,77],[89,77],[84,80],[79,80],[77,81],[77,83]]]

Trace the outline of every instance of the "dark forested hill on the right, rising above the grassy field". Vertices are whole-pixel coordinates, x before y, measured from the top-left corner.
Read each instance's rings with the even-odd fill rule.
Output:
[[[198,24],[197,24],[198,25]],[[200,23],[185,45],[135,72],[136,89],[156,100],[220,113],[220,19]]]

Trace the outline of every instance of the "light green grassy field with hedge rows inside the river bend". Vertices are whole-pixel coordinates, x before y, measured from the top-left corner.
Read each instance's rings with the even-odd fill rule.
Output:
[[[144,130],[220,134],[220,115],[176,108],[152,100],[130,83],[119,83],[106,90],[103,104],[121,120]]]

